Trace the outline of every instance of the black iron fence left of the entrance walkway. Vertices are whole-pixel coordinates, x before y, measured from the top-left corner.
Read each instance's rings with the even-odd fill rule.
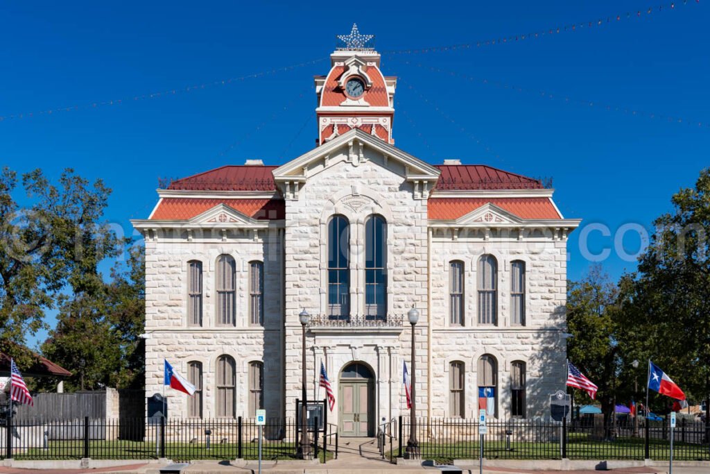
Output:
[[[329,426],[308,432],[304,458],[331,456]],[[300,458],[293,419],[262,426],[262,458]],[[259,426],[253,419],[77,419],[7,421],[0,426],[0,458],[14,459],[256,459]],[[336,438],[337,439],[337,438]],[[335,446],[337,449],[337,445]],[[329,454],[328,452],[331,451]]]

